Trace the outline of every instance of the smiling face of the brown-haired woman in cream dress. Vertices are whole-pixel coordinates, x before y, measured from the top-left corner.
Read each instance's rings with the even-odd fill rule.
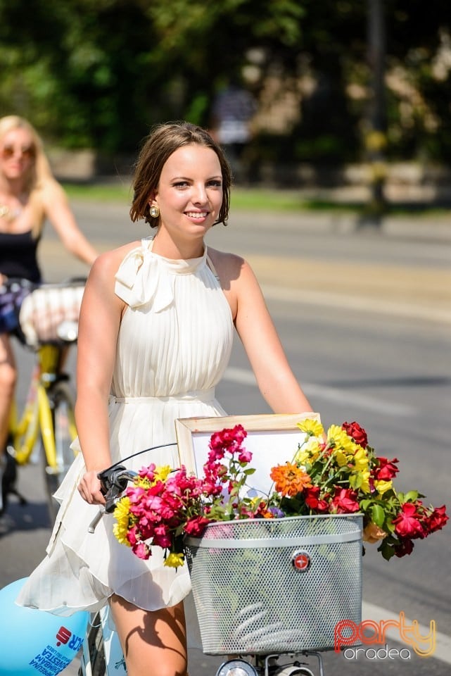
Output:
[[[158,190],[149,200],[160,209],[160,228],[173,238],[203,237],[217,221],[222,204],[222,172],[215,151],[199,144],[170,155]]]

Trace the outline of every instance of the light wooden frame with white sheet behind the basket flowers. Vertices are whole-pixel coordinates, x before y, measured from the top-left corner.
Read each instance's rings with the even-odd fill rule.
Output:
[[[292,461],[298,444],[305,439],[297,423],[305,418],[320,420],[319,413],[280,415],[227,415],[220,418],[179,418],[175,421],[180,464],[189,474],[200,476],[208,458],[208,444],[213,432],[243,425],[248,436],[243,447],[252,453],[249,466],[255,468],[248,477],[248,494],[267,495],[272,486],[269,472],[274,465]]]

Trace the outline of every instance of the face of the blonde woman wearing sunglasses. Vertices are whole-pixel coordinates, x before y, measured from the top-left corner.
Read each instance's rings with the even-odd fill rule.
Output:
[[[20,180],[34,164],[36,149],[32,134],[17,127],[0,139],[0,173],[7,180]]]

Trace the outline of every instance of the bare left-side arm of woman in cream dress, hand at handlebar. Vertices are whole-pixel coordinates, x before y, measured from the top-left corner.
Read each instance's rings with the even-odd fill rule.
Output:
[[[125,307],[114,293],[114,275],[123,256],[119,249],[96,259],[80,312],[75,420],[87,469],[79,491],[89,503],[103,503],[97,472],[111,464],[108,395]]]

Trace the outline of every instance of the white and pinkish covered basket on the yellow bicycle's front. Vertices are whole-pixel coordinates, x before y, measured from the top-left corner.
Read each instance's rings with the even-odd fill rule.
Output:
[[[68,282],[42,284],[28,294],[19,313],[27,345],[76,340],[83,292],[84,282]]]

